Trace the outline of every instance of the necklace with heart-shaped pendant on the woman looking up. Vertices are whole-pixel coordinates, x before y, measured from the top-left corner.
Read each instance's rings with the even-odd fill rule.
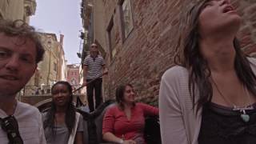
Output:
[[[248,99],[249,99],[249,106],[243,106],[243,107],[239,107],[239,106],[236,106],[233,102],[231,102],[230,100],[226,99],[226,97],[224,97],[224,95],[222,94],[222,92],[218,89],[218,86],[216,84],[216,82],[214,82],[214,78],[210,77],[212,82],[214,83],[214,86],[216,88],[216,90],[218,91],[218,94],[220,94],[223,98],[224,101],[230,103],[232,106],[233,106],[233,109],[232,110],[238,110],[240,111],[240,117],[242,118],[242,121],[243,122],[249,122],[250,121],[250,115],[249,114],[246,114],[246,110],[253,110],[254,107],[251,106],[251,103],[250,103],[250,95],[248,93],[247,90],[245,90],[244,86],[242,86],[242,90],[246,91],[246,95],[248,96]]]

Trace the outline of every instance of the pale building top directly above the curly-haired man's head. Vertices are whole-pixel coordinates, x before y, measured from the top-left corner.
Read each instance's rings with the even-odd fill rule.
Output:
[[[0,18],[3,19],[22,19],[30,22],[30,16],[35,14],[37,3],[35,0],[1,0]]]

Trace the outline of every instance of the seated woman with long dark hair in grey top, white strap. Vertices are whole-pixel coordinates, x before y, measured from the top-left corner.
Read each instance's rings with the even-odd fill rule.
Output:
[[[72,103],[72,86],[59,81],[51,88],[52,105],[43,114],[46,142],[49,144],[82,144],[82,116]]]

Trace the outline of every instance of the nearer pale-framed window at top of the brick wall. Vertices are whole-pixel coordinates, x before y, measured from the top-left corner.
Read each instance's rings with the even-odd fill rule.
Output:
[[[123,39],[126,39],[130,32],[134,29],[132,10],[130,0],[122,0],[120,2],[121,20],[122,20],[122,34]]]

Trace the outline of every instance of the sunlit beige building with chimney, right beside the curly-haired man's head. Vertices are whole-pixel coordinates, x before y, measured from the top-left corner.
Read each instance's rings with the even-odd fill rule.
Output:
[[[56,34],[39,33],[46,50],[42,62],[30,82],[26,84],[25,94],[49,94],[50,87],[60,80],[66,80],[66,60],[62,48],[63,35],[58,42]]]

